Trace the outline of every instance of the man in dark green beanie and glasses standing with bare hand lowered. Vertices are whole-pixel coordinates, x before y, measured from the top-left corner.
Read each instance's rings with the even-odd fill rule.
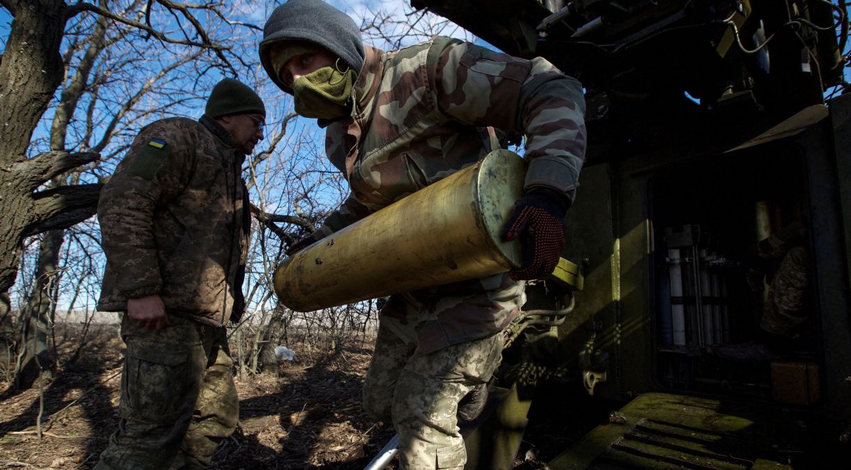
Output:
[[[199,120],[143,128],[100,193],[98,309],[123,312],[118,430],[95,468],[203,468],[239,416],[226,324],[243,312],[245,156],[266,106],[226,78]]]

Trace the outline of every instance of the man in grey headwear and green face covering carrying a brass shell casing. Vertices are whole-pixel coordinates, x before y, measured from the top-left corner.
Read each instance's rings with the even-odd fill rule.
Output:
[[[392,295],[364,381],[366,410],[399,434],[401,468],[460,469],[458,419],[483,408],[501,333],[525,302],[524,281],[545,278],[561,255],[585,156],[582,86],[540,57],[448,37],[375,49],[348,15],[321,0],[277,7],[260,60],[294,96],[295,111],[327,127],[328,158],[351,187],[340,209],[289,253],[476,163],[505,136],[525,136],[525,193],[504,232],[521,239],[524,266]]]

